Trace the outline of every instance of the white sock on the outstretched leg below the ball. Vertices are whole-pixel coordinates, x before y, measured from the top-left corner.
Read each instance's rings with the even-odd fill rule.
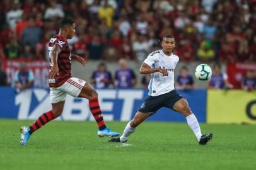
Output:
[[[189,125],[191,130],[194,132],[195,137],[197,137],[197,140],[199,142],[201,139],[202,133],[201,133],[199,123],[197,122],[197,118],[192,113],[191,115],[187,116],[186,119],[187,119],[187,124]]]

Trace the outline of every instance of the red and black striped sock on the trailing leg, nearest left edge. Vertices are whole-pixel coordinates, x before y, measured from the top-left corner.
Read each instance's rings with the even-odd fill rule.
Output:
[[[32,125],[30,126],[30,135],[35,132],[36,130],[38,130],[38,128],[44,126],[46,123],[50,122],[51,120],[54,120],[56,118],[56,116],[54,115],[54,113],[52,112],[52,110],[44,113],[43,115],[41,115],[37,120],[35,120],[34,123],[32,123]]]

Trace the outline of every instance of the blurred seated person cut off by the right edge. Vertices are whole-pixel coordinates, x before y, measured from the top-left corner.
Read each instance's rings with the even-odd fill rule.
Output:
[[[256,90],[256,76],[253,70],[248,70],[243,77],[243,81],[241,82],[241,89],[245,91]]]

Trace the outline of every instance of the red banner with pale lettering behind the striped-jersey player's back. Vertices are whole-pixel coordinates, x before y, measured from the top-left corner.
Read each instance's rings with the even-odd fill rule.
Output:
[[[34,87],[46,88],[48,85],[49,62],[45,60],[3,60],[2,67],[11,86],[15,84],[15,72],[20,69],[20,64],[25,63],[26,69],[34,74]]]

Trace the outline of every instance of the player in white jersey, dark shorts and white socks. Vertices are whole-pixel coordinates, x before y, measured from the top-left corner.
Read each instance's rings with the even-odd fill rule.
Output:
[[[165,35],[161,46],[163,47],[161,50],[149,54],[141,65],[141,74],[151,74],[148,97],[131,122],[127,123],[122,136],[112,138],[108,142],[126,142],[136,127],[161,107],[182,113],[199,144],[205,145],[212,139],[212,133],[202,135],[197,118],[190,110],[187,100],[180,96],[174,88],[174,70],[179,59],[177,55],[172,53],[173,48],[175,48],[173,35]]]

